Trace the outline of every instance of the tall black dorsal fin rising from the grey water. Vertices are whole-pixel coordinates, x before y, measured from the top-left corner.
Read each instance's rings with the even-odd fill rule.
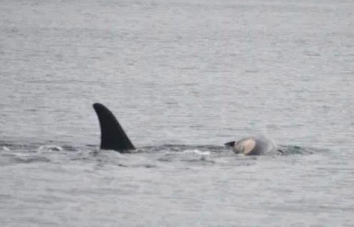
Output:
[[[126,151],[135,149],[113,113],[101,103],[94,103],[101,127],[101,149]]]

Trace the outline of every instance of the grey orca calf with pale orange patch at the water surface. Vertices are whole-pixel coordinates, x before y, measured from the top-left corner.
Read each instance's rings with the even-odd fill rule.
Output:
[[[225,145],[232,147],[235,154],[261,155],[273,151],[284,153],[275,145],[273,140],[263,136],[245,137],[238,141],[225,143]]]

